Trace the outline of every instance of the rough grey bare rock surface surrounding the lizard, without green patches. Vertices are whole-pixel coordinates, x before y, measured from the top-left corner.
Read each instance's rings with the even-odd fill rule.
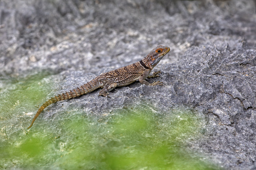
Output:
[[[56,103],[46,118],[68,107],[101,115],[145,101],[159,113],[189,107],[208,120],[192,149],[224,168],[255,169],[255,26],[255,1],[248,0],[3,0],[0,77],[47,72],[51,97],[137,62],[158,44],[169,46],[155,67],[162,74],[154,80],[163,87],[135,82],[113,90],[111,98],[95,91]]]

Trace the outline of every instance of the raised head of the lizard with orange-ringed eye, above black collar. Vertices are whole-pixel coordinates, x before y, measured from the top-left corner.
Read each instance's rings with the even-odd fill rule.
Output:
[[[145,57],[146,65],[151,69],[154,68],[169,51],[169,47],[158,45]]]

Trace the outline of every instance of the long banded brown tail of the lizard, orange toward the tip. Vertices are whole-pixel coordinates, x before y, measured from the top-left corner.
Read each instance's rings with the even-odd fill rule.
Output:
[[[76,89],[72,89],[70,91],[67,91],[65,93],[62,93],[62,94],[58,94],[57,96],[55,97],[52,97],[51,99],[49,99],[48,101],[46,101],[37,111],[35,117],[33,118],[30,126],[28,127],[28,129],[30,127],[32,127],[32,125],[34,124],[36,118],[39,116],[39,114],[47,107],[49,106],[50,104],[53,104],[53,103],[56,103],[58,101],[61,101],[61,100],[67,100],[67,99],[71,99],[71,98],[74,98],[74,97],[78,97],[78,96],[81,96],[83,94],[87,94],[87,93],[90,93],[98,88],[100,88],[100,85],[98,85],[99,83],[97,83],[96,80],[92,80],[80,87],[77,87]]]

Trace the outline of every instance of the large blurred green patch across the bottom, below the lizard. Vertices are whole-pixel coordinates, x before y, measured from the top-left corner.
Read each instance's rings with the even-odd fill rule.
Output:
[[[81,116],[59,120],[54,129],[34,129],[1,145],[1,166],[12,168],[15,161],[15,166],[32,169],[208,169],[182,149],[201,123],[192,112],[177,113],[157,117],[131,109],[102,122]]]

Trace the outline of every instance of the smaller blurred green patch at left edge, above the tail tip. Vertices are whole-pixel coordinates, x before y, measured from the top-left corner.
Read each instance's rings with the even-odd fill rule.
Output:
[[[51,87],[50,82],[44,78],[47,75],[34,75],[29,78],[14,79],[2,78],[0,83],[0,114],[14,116],[19,112],[26,112],[38,106],[42,99],[45,99],[47,90]],[[29,107],[29,109],[28,109]]]

